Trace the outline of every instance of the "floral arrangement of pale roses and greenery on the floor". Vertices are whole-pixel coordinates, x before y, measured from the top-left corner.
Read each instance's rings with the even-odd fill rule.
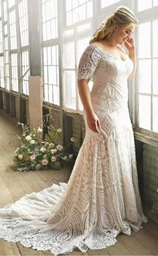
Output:
[[[23,123],[17,123],[17,125],[21,125],[23,134],[21,137],[18,135],[15,137],[17,148],[13,161],[20,172],[46,168],[60,169],[72,159],[73,154],[69,154],[67,149],[75,138],[72,137],[70,144],[64,149],[60,139],[62,129],[55,129],[49,125],[48,134],[43,139],[42,128],[33,129],[30,133],[28,125],[23,125]]]

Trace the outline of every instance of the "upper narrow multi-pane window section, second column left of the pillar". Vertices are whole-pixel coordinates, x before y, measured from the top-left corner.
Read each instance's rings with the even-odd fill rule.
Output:
[[[17,31],[16,31],[15,9],[9,13],[9,23],[10,23],[11,50],[13,50],[13,49],[17,49]]]

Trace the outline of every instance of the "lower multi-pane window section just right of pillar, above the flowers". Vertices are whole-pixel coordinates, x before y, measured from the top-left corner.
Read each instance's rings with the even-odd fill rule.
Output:
[[[44,47],[44,99],[60,104],[58,46]]]

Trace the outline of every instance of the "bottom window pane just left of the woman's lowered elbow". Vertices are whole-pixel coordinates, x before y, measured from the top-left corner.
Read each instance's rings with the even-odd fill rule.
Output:
[[[76,76],[75,71],[64,72],[64,99],[67,108],[76,109]]]

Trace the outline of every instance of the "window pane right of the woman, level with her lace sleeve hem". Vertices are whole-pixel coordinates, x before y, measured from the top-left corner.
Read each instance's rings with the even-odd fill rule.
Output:
[[[139,61],[139,92],[151,93],[151,60]]]

